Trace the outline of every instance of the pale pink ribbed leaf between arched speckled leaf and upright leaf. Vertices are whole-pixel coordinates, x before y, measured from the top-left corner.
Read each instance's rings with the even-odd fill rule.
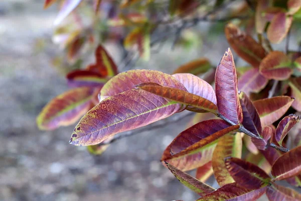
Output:
[[[216,105],[215,91],[208,82],[190,73],[176,73],[173,74],[173,76],[176,77],[185,86],[188,92],[206,98]],[[192,107],[188,107],[188,110],[190,109],[192,109]]]

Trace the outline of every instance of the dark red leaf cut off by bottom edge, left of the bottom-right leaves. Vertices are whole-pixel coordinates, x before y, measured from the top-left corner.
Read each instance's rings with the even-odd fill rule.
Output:
[[[261,197],[261,195],[265,193],[265,189],[266,187],[251,190],[242,187],[238,183],[229,183],[218,188],[216,191],[197,199],[197,201],[253,201]]]

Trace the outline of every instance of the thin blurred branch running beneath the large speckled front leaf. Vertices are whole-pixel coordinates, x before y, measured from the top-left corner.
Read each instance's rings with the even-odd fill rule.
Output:
[[[187,113],[185,115],[177,115],[177,116],[175,116],[173,118],[162,120],[160,122],[156,122],[154,124],[150,124],[149,126],[145,126],[145,127],[140,128],[140,129],[136,129],[136,130],[132,130],[132,131],[127,131],[127,132],[122,133],[121,135],[118,135],[118,136],[114,137],[113,139],[111,139],[109,141],[104,141],[104,142],[99,143],[98,146],[108,145],[108,144],[111,144],[111,143],[113,143],[115,141],[118,141],[118,140],[120,140],[122,138],[129,137],[129,136],[132,136],[132,135],[136,135],[136,134],[142,133],[144,131],[149,131],[149,130],[153,130],[153,129],[163,128],[167,124],[173,124],[173,123],[180,122],[184,118],[192,116],[194,114],[195,113],[191,113],[190,112],[190,113]]]

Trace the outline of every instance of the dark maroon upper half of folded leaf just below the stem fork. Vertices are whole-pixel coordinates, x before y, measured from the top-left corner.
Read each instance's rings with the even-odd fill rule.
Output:
[[[200,122],[181,132],[173,140],[173,142],[171,143],[171,153],[179,153],[185,150],[187,147],[190,147],[197,142],[201,142],[207,137],[212,136],[214,133],[229,127],[230,125],[227,122],[219,119]]]

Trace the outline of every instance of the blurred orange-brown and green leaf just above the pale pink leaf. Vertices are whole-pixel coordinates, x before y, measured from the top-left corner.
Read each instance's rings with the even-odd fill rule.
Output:
[[[174,73],[191,73],[198,75],[207,72],[211,68],[211,64],[207,58],[200,58],[178,67]]]

